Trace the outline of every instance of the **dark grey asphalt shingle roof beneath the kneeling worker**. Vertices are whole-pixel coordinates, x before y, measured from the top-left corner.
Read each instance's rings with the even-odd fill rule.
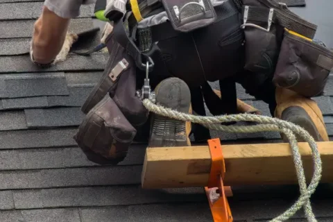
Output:
[[[333,1],[307,1],[295,12],[319,25],[318,38],[333,48]],[[71,22],[76,33],[94,26],[93,6],[83,6]],[[110,222],[212,221],[202,187],[144,190],[140,174],[145,146],[133,145],[117,167],[89,162],[74,133],[83,114],[80,105],[99,80],[108,55],[71,54],[50,69],[31,64],[28,51],[39,0],[0,3],[0,221]],[[213,84],[214,85],[214,84]],[[244,99],[264,114],[268,106],[238,87]],[[324,96],[315,98],[333,136],[333,76]],[[217,134],[214,134],[217,136]],[[279,142],[275,133],[219,134],[223,143]],[[241,140],[244,139],[244,140]],[[262,221],[287,210],[297,186],[234,187],[229,198],[234,221]],[[333,190],[322,185],[313,200],[318,221],[333,221]],[[298,212],[291,221],[306,221]]]

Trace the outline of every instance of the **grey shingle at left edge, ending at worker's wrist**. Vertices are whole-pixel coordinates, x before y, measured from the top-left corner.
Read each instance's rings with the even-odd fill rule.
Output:
[[[30,38],[0,39],[0,56],[12,56],[28,53],[30,41]]]

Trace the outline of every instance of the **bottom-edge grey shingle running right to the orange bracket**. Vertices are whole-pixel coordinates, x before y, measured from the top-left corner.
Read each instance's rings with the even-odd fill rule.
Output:
[[[212,221],[208,203],[149,204],[80,209],[82,222]]]

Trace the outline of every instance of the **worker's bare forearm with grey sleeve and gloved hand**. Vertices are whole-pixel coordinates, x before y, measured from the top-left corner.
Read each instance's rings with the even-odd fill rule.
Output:
[[[31,60],[36,65],[49,66],[55,63],[62,51],[68,52],[77,35],[68,33],[71,19],[80,15],[80,6],[96,0],[46,0],[42,14],[33,26]],[[67,49],[65,49],[67,46]],[[59,59],[61,60],[61,58]]]

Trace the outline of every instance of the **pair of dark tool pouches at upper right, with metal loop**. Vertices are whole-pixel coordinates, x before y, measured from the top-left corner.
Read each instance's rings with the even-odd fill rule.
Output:
[[[289,4],[293,3],[289,0]],[[244,68],[306,97],[323,93],[333,54],[312,41],[317,26],[272,0],[242,0]],[[297,3],[294,1],[294,3]]]

